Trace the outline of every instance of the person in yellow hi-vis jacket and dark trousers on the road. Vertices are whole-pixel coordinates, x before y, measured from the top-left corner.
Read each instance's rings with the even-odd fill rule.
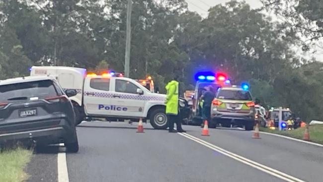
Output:
[[[186,132],[182,129],[181,121],[178,118],[178,76],[175,76],[172,81],[166,85],[166,114],[168,116],[169,132]],[[174,130],[176,123],[177,131]]]

